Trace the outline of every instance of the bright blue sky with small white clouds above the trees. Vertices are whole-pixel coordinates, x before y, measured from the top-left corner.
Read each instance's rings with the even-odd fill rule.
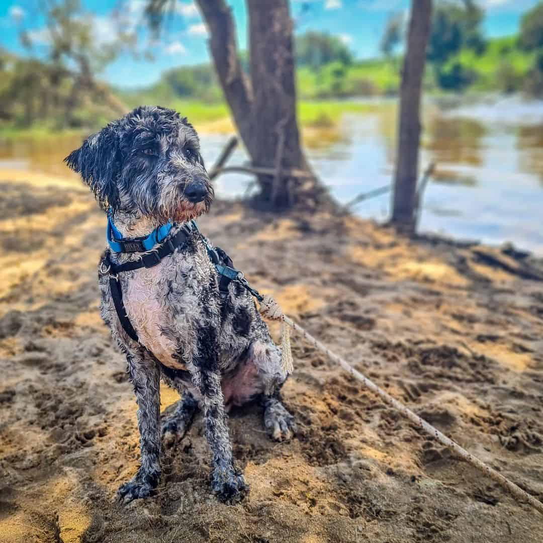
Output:
[[[30,32],[37,55],[44,49],[47,31],[43,20],[36,16],[36,0],[0,0],[0,45],[15,53],[28,54],[18,39],[18,29]],[[523,12],[538,0],[479,0],[486,11],[484,31],[487,36],[514,33]],[[192,0],[176,0],[175,13],[160,40],[149,42],[142,24],[145,0],[83,0],[93,21],[97,43],[107,42],[113,33],[113,12],[119,5],[125,24],[138,35],[138,42],[149,47],[154,59],[138,60],[123,54],[106,68],[102,77],[123,87],[145,86],[159,79],[162,71],[180,65],[198,64],[209,60],[207,31]],[[243,0],[231,0],[238,30],[238,42],[245,47],[247,16]],[[378,43],[390,14],[405,11],[408,0],[293,0],[291,10],[296,32],[326,30],[341,37],[358,58],[378,54]]]

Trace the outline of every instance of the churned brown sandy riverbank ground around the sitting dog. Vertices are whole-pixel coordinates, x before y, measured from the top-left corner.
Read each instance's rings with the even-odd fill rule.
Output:
[[[543,282],[519,276],[541,261],[232,203],[200,227],[314,336],[543,499]],[[244,502],[211,495],[197,418],[163,455],[157,495],[117,504],[139,452],[123,357],[98,315],[104,228],[71,181],[2,181],[0,541],[541,541],[543,516],[295,336],[283,396],[296,438],[269,441],[256,406],[230,418]],[[163,409],[176,399],[162,388]]]

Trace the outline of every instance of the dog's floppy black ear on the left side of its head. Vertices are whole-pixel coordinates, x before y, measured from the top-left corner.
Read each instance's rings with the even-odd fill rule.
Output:
[[[75,149],[64,159],[68,167],[81,174],[103,210],[108,207],[116,209],[118,206],[119,154],[116,132],[107,126],[97,134],[89,136],[79,149]]]

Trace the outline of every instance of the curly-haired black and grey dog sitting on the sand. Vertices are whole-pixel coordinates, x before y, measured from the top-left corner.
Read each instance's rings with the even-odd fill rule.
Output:
[[[224,501],[243,497],[248,487],[233,462],[226,412],[260,400],[264,426],[277,440],[291,437],[293,417],[279,396],[287,377],[281,351],[251,295],[234,280],[221,296],[209,242],[190,227],[213,200],[196,131],[173,110],[142,106],[87,138],[65,160],[109,213],[113,251],[99,266],[100,309],[127,356],[141,438],[140,468],[119,497],[129,502],[153,493],[161,431],[168,439],[182,437],[198,407],[212,452],[212,488]],[[171,230],[160,240],[168,223]],[[183,232],[184,243],[174,247]],[[146,243],[150,251],[141,252]],[[154,254],[161,258],[126,270]],[[113,275],[116,267],[123,273]],[[119,298],[122,310],[116,309]],[[161,377],[182,396],[162,425]]]

